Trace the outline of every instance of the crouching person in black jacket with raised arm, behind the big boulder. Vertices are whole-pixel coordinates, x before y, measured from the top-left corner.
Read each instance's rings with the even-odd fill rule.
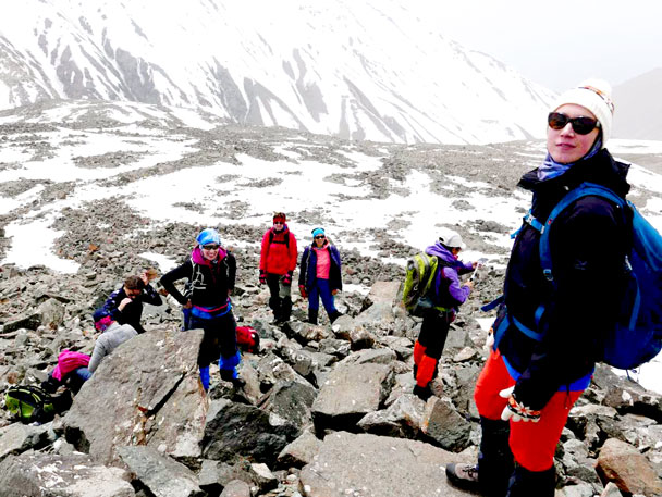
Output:
[[[139,276],[128,276],[122,288],[110,294],[103,309],[120,324],[131,324],[138,333],[145,333],[140,324],[143,303],[160,306],[161,296],[149,284],[157,277],[155,270],[146,270]]]

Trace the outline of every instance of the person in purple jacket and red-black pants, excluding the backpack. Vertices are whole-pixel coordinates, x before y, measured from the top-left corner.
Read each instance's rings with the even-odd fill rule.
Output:
[[[473,282],[462,283],[459,275],[476,269],[476,262],[464,263],[457,254],[465,247],[459,235],[440,237],[426,249],[428,256],[437,257],[437,274],[427,297],[434,307],[426,309],[422,325],[414,344],[414,394],[424,400],[430,395],[430,382],[437,376],[438,363],[446,343],[449,328],[455,320],[457,308],[464,303],[474,288]]]

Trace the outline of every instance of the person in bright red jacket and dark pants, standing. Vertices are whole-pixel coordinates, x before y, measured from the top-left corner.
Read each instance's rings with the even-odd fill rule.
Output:
[[[296,238],[286,221],[283,212],[273,214],[273,227],[265,233],[260,251],[260,285],[269,286],[269,307],[274,324],[290,321],[292,313],[292,274],[298,253]]]

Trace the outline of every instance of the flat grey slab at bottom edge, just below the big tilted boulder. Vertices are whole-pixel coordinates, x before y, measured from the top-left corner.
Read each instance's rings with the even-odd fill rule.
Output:
[[[151,447],[120,447],[118,452],[137,480],[157,497],[206,495],[193,471]]]

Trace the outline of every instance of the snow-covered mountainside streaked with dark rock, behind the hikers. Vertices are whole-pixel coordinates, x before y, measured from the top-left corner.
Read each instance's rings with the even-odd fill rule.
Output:
[[[0,107],[137,101],[376,141],[541,137],[552,94],[444,38],[421,5],[13,2],[0,17]]]

